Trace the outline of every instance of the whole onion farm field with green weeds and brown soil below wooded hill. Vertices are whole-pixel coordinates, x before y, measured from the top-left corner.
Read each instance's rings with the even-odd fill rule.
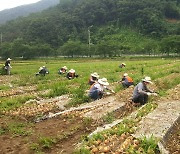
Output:
[[[125,68],[119,68],[122,62]],[[50,73],[35,76],[44,65]],[[59,75],[58,69],[64,65],[75,69],[79,77],[68,80]],[[143,117],[159,104],[180,104],[179,59],[55,59],[12,61],[11,66],[12,75],[0,75],[0,153],[159,153],[158,139],[133,134]],[[106,77],[115,94],[94,102],[89,99],[87,82],[93,72]],[[134,107],[133,87],[123,89],[118,83],[124,73],[135,84],[150,76],[154,83],[150,87],[159,95],[143,108]],[[132,113],[136,116],[127,118]],[[117,125],[89,136],[116,120],[120,120]],[[179,127],[177,120],[172,128]],[[172,130],[166,141],[170,153],[180,152],[178,131]]]

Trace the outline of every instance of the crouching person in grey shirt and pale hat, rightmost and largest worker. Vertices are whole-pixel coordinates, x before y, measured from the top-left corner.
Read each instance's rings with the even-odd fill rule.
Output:
[[[140,105],[144,105],[148,101],[148,96],[150,95],[157,95],[152,90],[147,88],[148,84],[152,84],[151,78],[146,76],[144,79],[142,79],[142,82],[138,83],[136,87],[134,88],[133,92],[133,98],[132,101],[134,103],[140,103]]]

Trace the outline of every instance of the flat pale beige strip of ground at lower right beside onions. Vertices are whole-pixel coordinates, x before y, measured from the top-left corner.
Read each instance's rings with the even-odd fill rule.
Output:
[[[161,102],[158,107],[139,123],[136,137],[142,135],[163,138],[174,122],[178,119],[180,112],[180,101]]]

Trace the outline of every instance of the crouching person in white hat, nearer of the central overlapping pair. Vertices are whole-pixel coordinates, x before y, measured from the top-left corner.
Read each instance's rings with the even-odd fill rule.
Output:
[[[90,90],[89,90],[89,96],[93,100],[101,99],[105,93],[105,90],[110,90],[106,86],[108,86],[109,83],[106,78],[99,79],[98,82],[95,82]],[[115,93],[113,90],[110,90],[112,93]]]

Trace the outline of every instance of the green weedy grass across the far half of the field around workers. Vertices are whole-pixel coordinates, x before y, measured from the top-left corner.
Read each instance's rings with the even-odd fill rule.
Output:
[[[125,62],[125,68],[119,68],[119,65]],[[3,82],[1,91],[11,91],[19,86],[37,86],[37,91],[49,90],[49,93],[41,95],[41,97],[56,97],[63,94],[71,95],[71,105],[75,106],[84,102],[90,101],[85,95],[85,91],[89,89],[87,84],[91,73],[98,72],[100,77],[106,77],[110,84],[120,81],[122,75],[126,72],[133,77],[135,83],[147,75],[152,77],[155,83],[158,84],[159,90],[166,87],[168,90],[172,86],[179,84],[179,67],[180,61],[174,59],[156,59],[145,61],[114,61],[114,60],[95,60],[95,61],[63,61],[63,60],[38,60],[38,61],[12,61],[12,75],[0,76]],[[35,76],[40,66],[45,65],[50,74],[45,77]],[[75,69],[79,75],[74,80],[68,80],[64,75],[58,74],[58,69],[66,65],[68,69]],[[143,68],[143,70],[142,70]],[[166,78],[171,74],[175,74],[170,80]],[[8,80],[9,79],[9,80]],[[161,82],[159,82],[159,79]],[[164,81],[164,82],[162,82]],[[171,84],[171,83],[173,84]],[[166,84],[166,86],[164,86]],[[169,84],[171,86],[169,86]],[[12,87],[9,87],[11,85]],[[4,86],[4,87],[3,87]],[[0,88],[1,88],[0,87]],[[161,88],[162,87],[162,88]],[[115,89],[122,90],[120,84],[115,84]],[[117,90],[116,90],[117,91]],[[17,108],[28,99],[36,98],[36,96],[16,96],[0,98],[0,111],[6,109]]]

